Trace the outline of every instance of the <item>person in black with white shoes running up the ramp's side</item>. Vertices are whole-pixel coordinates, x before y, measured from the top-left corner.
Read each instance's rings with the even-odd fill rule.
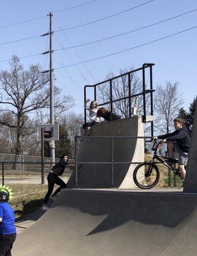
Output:
[[[60,161],[56,163],[50,173],[48,173],[48,192],[45,195],[45,198],[43,200],[42,210],[47,211],[49,207],[47,206],[48,198],[50,197],[52,200],[55,200],[55,196],[61,191],[62,188],[66,188],[66,183],[59,178],[59,176],[62,175],[62,173],[65,170],[66,165],[68,164],[68,156],[65,154],[60,157]],[[54,190],[54,185],[57,184],[60,187],[55,190],[55,192],[52,194]],[[50,196],[52,194],[52,196]]]

